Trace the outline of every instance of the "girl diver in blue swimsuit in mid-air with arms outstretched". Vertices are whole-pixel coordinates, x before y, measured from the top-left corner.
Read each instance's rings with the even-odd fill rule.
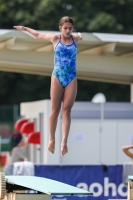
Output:
[[[68,152],[67,139],[71,123],[71,108],[77,94],[76,76],[76,54],[77,43],[82,39],[82,34],[72,34],[74,20],[65,16],[59,21],[60,34],[41,34],[33,29],[24,26],[14,26],[18,30],[24,30],[38,39],[48,40],[54,46],[54,70],[51,76],[51,103],[52,110],[49,118],[50,137],[48,150],[54,153],[55,130],[58,114],[62,104],[62,142],[61,155]]]

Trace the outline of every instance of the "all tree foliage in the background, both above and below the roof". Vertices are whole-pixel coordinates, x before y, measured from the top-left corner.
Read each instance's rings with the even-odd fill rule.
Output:
[[[76,31],[133,34],[133,0],[0,0],[0,29],[24,25],[36,30],[58,30],[68,15]],[[108,101],[130,101],[128,85],[79,81],[76,100],[90,101],[103,92]],[[0,72],[0,104],[49,99],[50,77]],[[123,95],[124,94],[124,95]]]

